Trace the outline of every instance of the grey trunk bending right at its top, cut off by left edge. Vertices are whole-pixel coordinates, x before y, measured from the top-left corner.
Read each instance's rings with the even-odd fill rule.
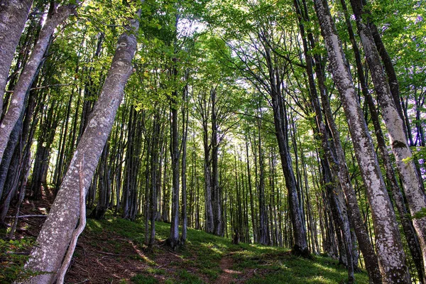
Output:
[[[18,82],[13,89],[9,109],[6,112],[3,121],[1,121],[0,162],[3,158],[4,150],[6,149],[7,141],[9,140],[13,127],[21,115],[26,92],[33,83],[35,74],[38,70],[38,65],[40,65],[40,62],[43,60],[45,50],[48,48],[50,36],[55,31],[55,28],[74,12],[75,5],[60,6],[58,9],[55,9],[55,11],[48,16],[45,25],[38,35],[38,40],[34,46],[33,52],[31,53],[31,56],[26,66],[23,68]]]

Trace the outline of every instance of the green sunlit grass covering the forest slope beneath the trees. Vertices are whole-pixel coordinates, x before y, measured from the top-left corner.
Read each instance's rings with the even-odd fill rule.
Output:
[[[108,217],[103,221],[88,220],[87,234],[111,231],[143,247],[145,226],[142,220],[130,222],[121,218]],[[170,224],[157,222],[157,239],[168,237]],[[119,246],[116,248],[119,249]],[[346,283],[347,272],[337,261],[325,256],[307,260],[292,256],[288,249],[258,244],[231,244],[230,239],[207,234],[204,231],[188,229],[187,242],[178,251],[179,261],[170,261],[167,273],[155,268],[155,255],[161,248],[156,247],[148,256],[151,268],[131,278],[133,283],[156,283],[157,275],[165,275],[165,283],[212,283],[222,273],[219,263],[224,256],[233,259],[232,270],[244,271],[239,275],[245,283]],[[173,273],[170,273],[172,268]],[[188,273],[187,271],[191,271]],[[366,273],[356,273],[356,283],[368,283]],[[238,280],[238,278],[236,278]]]

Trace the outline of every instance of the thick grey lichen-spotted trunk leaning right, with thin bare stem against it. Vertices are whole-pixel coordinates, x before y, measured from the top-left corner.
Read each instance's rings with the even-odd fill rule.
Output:
[[[84,177],[84,190],[87,192],[111,131],[116,111],[123,99],[124,86],[133,70],[131,60],[136,52],[134,31],[138,30],[138,26],[138,20],[131,21],[131,31],[126,31],[119,38],[104,87],[94,106],[92,118],[75,150],[48,219],[37,238],[38,246],[34,247],[26,263],[26,269],[46,273],[34,275],[23,280],[22,283],[45,284],[53,283],[55,280],[79,217],[79,175],[81,172]],[[82,160],[84,163],[80,168]]]

